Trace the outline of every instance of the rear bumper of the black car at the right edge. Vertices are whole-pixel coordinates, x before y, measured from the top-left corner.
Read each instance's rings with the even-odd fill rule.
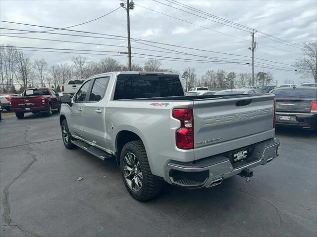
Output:
[[[285,113],[276,112],[277,126],[298,126],[303,128],[317,129],[317,114],[315,113]],[[279,116],[295,116],[295,121],[279,120]]]

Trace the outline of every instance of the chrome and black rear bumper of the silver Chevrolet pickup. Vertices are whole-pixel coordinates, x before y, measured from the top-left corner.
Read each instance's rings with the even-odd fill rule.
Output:
[[[204,158],[194,163],[169,162],[165,166],[165,180],[169,184],[185,188],[210,188],[220,184],[223,179],[240,174],[242,171],[264,165],[278,156],[280,142],[277,139],[269,139],[254,144],[252,160],[246,165],[234,168],[229,158],[218,155]]]

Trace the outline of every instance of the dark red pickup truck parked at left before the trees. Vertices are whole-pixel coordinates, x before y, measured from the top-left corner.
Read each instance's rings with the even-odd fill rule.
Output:
[[[45,112],[52,116],[53,109],[60,109],[58,94],[49,87],[27,88],[21,97],[11,97],[11,111],[16,118],[23,118],[25,113]]]

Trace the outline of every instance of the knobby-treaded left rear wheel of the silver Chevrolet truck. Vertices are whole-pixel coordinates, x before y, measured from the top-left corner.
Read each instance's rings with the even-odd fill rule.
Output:
[[[120,155],[120,168],[124,185],[138,201],[146,201],[159,195],[162,181],[151,172],[147,153],[141,140],[125,144]]]

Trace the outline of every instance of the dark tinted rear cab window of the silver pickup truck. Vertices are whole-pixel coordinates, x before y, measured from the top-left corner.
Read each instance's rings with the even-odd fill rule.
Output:
[[[182,84],[175,75],[141,76],[124,75],[117,77],[114,100],[139,99],[184,95]]]

